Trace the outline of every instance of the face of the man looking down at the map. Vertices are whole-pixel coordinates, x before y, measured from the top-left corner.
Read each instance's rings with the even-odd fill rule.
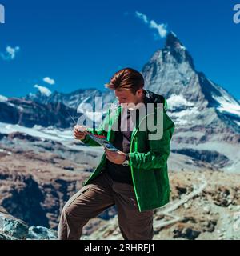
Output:
[[[118,98],[118,103],[123,104],[123,107],[135,106],[142,102],[142,89],[137,90],[136,94],[130,90],[115,90],[115,96]]]

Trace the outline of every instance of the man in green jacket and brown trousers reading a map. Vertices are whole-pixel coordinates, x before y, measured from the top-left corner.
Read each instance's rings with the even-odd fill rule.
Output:
[[[144,90],[143,86],[144,79],[138,71],[130,68],[118,71],[107,85],[118,99],[114,114],[109,111],[98,130],[74,127],[74,138],[89,146],[98,146],[87,133],[104,135],[118,151],[105,149],[96,170],[83,182],[82,189],[66,202],[58,239],[81,238],[82,227],[90,218],[114,205],[124,239],[153,238],[154,209],[169,202],[167,158],[174,122],[166,114],[166,99]],[[140,110],[150,108],[149,104],[153,106],[152,111],[142,117]],[[161,112],[159,105],[163,106]],[[158,122],[160,116],[162,136],[150,138],[154,132],[140,127],[143,121]]]

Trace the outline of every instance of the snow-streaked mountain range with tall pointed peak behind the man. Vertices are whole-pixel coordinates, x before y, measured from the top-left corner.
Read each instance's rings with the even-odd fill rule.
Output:
[[[167,99],[168,113],[176,124],[171,145],[174,154],[185,154],[222,170],[240,171],[240,156],[236,155],[240,104],[222,86],[195,70],[189,51],[173,32],[167,35],[164,48],[143,66],[142,74],[146,89]],[[94,108],[97,96],[102,96],[102,104],[114,101],[112,91],[96,89],[49,96],[39,91],[25,98],[1,96],[0,122],[69,128],[74,124],[70,116],[81,115],[82,103]]]

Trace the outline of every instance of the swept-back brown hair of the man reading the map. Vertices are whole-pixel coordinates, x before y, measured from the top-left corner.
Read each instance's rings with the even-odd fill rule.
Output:
[[[106,87],[111,90],[130,90],[132,94],[142,89],[144,86],[144,78],[137,70],[125,68],[119,70],[106,84]]]

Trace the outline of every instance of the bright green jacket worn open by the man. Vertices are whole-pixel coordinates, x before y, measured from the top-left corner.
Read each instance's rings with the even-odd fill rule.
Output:
[[[139,129],[142,120],[136,121],[136,126],[130,140],[130,169],[133,178],[134,192],[138,202],[138,210],[152,210],[164,206],[170,199],[170,184],[167,173],[167,158],[170,154],[170,139],[174,133],[174,122],[166,114],[166,99],[162,95],[154,94],[145,90],[147,102],[154,103],[154,112],[147,114],[145,118],[154,118],[156,123],[157,105],[163,103],[162,120],[163,135],[158,140],[150,140],[149,130]],[[114,114],[110,111],[98,129],[87,128],[92,134],[104,135],[109,142],[114,142],[114,130],[111,130],[114,122],[122,112],[122,107],[118,106]],[[147,113],[147,112],[146,112]],[[159,113],[159,112],[158,112]],[[145,120],[146,121],[146,120]],[[107,129],[106,129],[107,127]],[[99,146],[88,135],[82,140],[89,146]],[[82,183],[83,186],[89,184],[104,169],[106,156],[102,155],[101,162],[94,172]]]

